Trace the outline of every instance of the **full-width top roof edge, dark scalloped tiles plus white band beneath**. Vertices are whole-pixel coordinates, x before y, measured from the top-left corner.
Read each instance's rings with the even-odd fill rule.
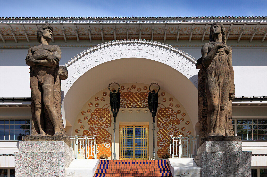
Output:
[[[220,21],[222,23],[264,23],[267,22],[266,16],[243,17],[243,16],[228,16],[228,17],[2,17],[0,24],[5,23],[213,23]]]

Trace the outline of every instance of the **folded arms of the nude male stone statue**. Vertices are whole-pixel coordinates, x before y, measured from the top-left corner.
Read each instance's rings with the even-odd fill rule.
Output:
[[[42,65],[42,66],[56,66],[58,65],[60,58],[61,58],[61,50],[57,45],[54,45],[55,51],[53,52],[52,55],[50,54],[40,54],[33,56],[32,52],[29,49],[28,55],[26,57],[26,64],[28,61],[29,66],[33,65]]]

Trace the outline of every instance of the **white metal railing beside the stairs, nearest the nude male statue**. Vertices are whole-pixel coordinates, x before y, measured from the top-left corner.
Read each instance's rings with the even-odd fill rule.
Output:
[[[72,158],[96,159],[96,136],[69,136]]]

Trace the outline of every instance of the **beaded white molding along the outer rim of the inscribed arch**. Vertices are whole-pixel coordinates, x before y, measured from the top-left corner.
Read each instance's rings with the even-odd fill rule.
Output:
[[[189,55],[188,53],[183,52],[182,50],[179,50],[178,48],[172,47],[171,45],[168,44],[164,44],[164,43],[160,43],[157,41],[150,41],[150,40],[142,40],[142,39],[124,39],[124,40],[116,40],[116,41],[108,41],[104,43],[102,43],[101,45],[98,44],[97,46],[95,45],[94,47],[91,47],[90,49],[84,50],[83,52],[81,52],[80,54],[77,54],[77,56],[74,56],[73,58],[71,58],[67,63],[65,63],[66,67],[69,67],[72,63],[74,63],[75,61],[78,61],[81,57],[85,56],[86,54],[93,52],[95,50],[107,47],[107,46],[112,46],[112,45],[117,45],[117,44],[129,44],[129,43],[141,43],[141,44],[150,44],[150,45],[156,45],[156,46],[160,46],[169,50],[172,50],[176,53],[179,53],[180,55],[183,55],[184,57],[188,58],[189,60],[191,60],[195,65],[197,64],[197,60],[195,60],[194,57],[192,57],[191,55]]]

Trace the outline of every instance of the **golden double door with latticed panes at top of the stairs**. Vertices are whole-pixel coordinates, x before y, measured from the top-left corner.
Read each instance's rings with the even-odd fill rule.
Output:
[[[120,160],[148,160],[148,125],[120,125]]]

